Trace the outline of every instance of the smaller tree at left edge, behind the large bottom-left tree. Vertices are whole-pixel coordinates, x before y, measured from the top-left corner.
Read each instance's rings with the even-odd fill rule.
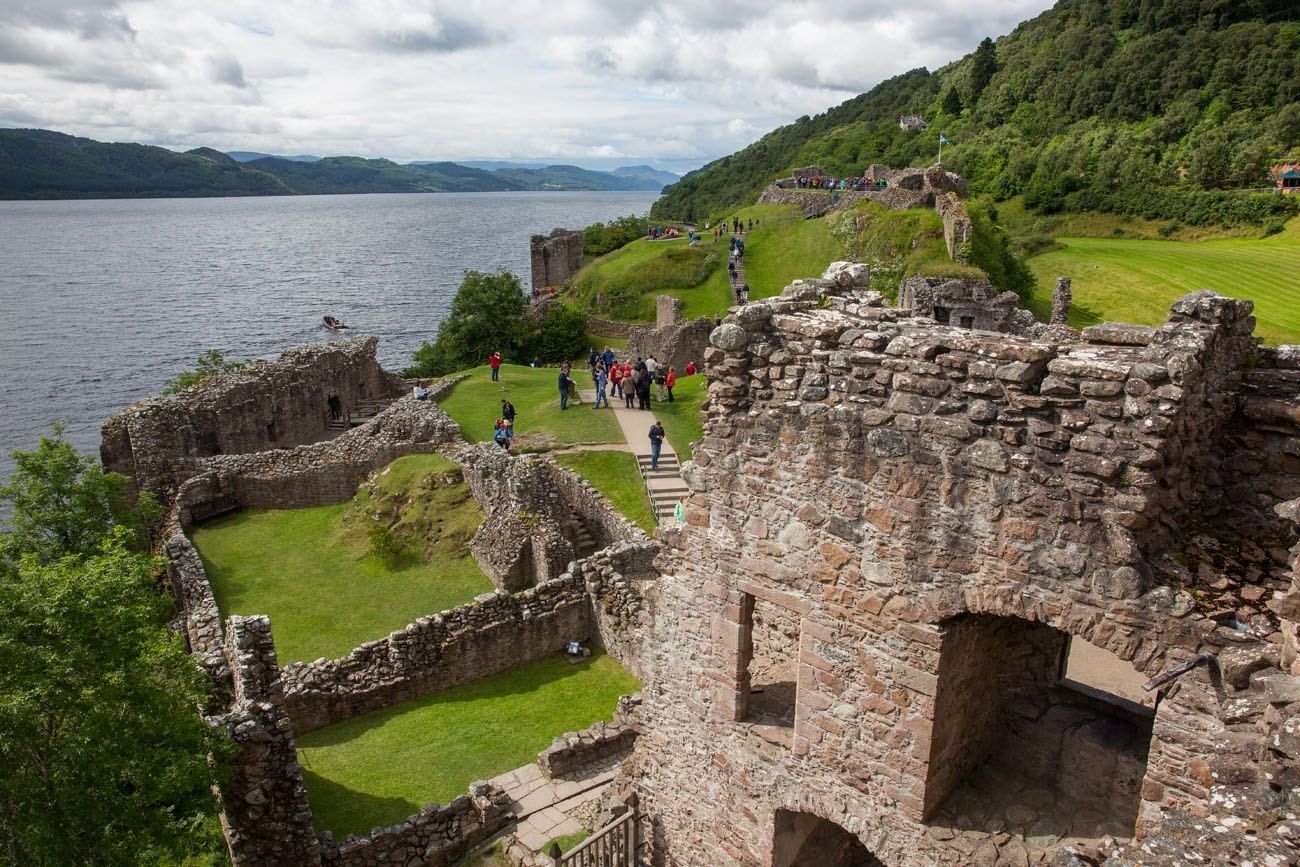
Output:
[[[144,494],[133,502],[126,476],[79,456],[64,439],[62,425],[56,424],[53,435],[42,437],[34,450],[10,456],[16,469],[0,487],[0,500],[10,503],[12,517],[0,538],[0,560],[12,565],[23,555],[39,563],[84,556],[117,530],[138,549],[147,543],[147,528],[159,513],[156,500]]]

